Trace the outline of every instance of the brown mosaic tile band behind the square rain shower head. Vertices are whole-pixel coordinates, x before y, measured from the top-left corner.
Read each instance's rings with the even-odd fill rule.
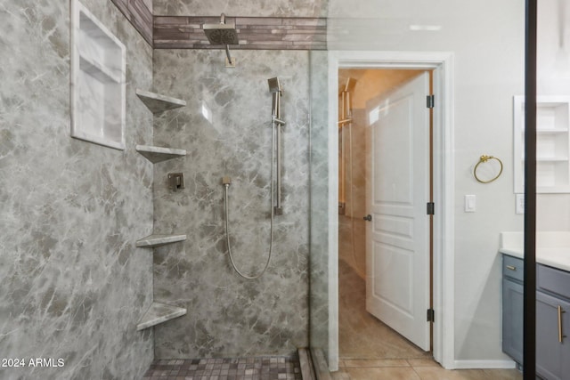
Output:
[[[219,17],[155,16],[155,49],[220,49],[209,44],[204,23],[220,22]],[[326,50],[327,20],[302,17],[226,17],[235,22],[240,44],[232,50]]]

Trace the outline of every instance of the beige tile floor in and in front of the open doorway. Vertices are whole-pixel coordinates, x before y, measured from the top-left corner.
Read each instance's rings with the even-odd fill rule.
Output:
[[[339,274],[339,370],[351,380],[521,380],[517,369],[446,370],[366,311],[365,283],[345,261]]]

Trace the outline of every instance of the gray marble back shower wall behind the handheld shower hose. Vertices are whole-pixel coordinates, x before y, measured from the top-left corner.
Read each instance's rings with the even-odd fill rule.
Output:
[[[155,327],[157,359],[290,355],[308,346],[308,52],[157,50],[154,86],[188,106],[155,118],[156,145],[188,151],[155,166],[157,233],[188,239],[154,254],[155,300],[187,315]],[[231,267],[224,238],[222,177],[231,176],[230,229],[237,264],[248,273],[269,248],[271,107],[267,79],[284,86],[284,214],[275,218],[273,257],[257,280]],[[183,172],[186,189],[167,189]]]

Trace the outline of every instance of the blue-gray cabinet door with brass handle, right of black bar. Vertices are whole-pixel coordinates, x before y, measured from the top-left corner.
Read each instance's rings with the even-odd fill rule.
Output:
[[[549,380],[568,378],[570,337],[566,337],[565,332],[570,336],[569,331],[570,303],[542,292],[536,292],[536,372],[538,375]],[[560,334],[562,339],[560,339]]]

